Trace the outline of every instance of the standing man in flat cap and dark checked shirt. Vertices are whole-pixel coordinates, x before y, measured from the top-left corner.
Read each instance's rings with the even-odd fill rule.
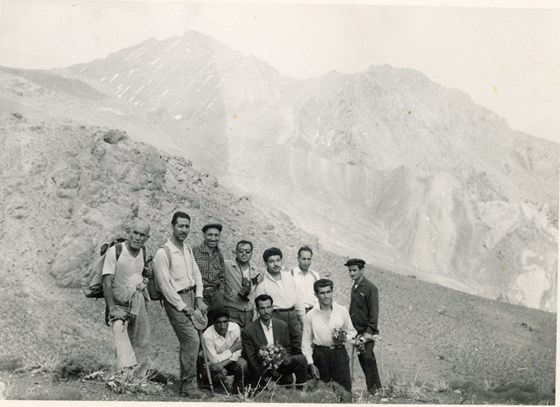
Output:
[[[196,264],[202,274],[202,284],[204,290],[202,298],[204,303],[210,308],[224,306],[224,256],[218,246],[222,225],[219,223],[208,223],[202,227],[204,241],[193,247],[193,254]],[[213,323],[213,321],[210,321]]]

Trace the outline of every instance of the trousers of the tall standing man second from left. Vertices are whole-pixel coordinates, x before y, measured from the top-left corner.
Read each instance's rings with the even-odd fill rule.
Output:
[[[187,307],[192,309],[194,293],[189,291],[188,293],[180,294],[180,296],[185,304],[187,304]],[[169,304],[165,299],[163,300],[163,306],[179,340],[179,392],[196,389],[196,359],[200,345],[198,332],[194,328],[190,317],[183,311],[177,311],[177,308]]]

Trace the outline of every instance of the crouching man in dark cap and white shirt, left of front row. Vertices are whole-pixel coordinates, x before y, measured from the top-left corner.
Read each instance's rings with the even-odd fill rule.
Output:
[[[225,385],[226,377],[233,375],[231,391],[242,394],[248,378],[247,361],[241,357],[241,329],[229,320],[229,311],[225,308],[211,309],[209,317],[214,324],[204,331],[202,346],[208,355],[212,382]]]

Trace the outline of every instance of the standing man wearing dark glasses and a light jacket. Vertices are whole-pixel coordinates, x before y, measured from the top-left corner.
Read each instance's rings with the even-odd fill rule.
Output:
[[[248,240],[237,242],[235,259],[225,263],[225,306],[230,321],[244,327],[253,321],[255,286],[263,280],[251,264],[253,243]]]

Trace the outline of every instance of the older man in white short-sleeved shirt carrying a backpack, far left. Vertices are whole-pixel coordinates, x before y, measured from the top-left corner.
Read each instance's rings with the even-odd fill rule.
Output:
[[[109,324],[120,369],[142,365],[137,374],[147,370],[150,325],[145,303],[146,281],[143,278],[144,243],[150,226],[136,221],[124,243],[107,250],[103,263],[103,295],[109,311]]]

